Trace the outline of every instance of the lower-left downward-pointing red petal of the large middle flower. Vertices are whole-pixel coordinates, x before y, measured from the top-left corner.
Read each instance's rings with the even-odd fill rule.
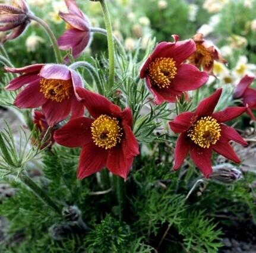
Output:
[[[94,143],[83,146],[77,170],[77,178],[83,179],[106,166],[108,151]]]

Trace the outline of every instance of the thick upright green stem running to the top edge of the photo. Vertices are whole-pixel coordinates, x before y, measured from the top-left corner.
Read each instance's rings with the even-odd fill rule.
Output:
[[[107,39],[108,39],[108,50],[109,50],[109,91],[114,85],[115,78],[115,45],[113,42],[112,36],[112,26],[110,22],[110,15],[108,6],[106,5],[106,0],[100,0],[100,4],[102,6],[102,12],[105,20],[105,26],[107,30]]]

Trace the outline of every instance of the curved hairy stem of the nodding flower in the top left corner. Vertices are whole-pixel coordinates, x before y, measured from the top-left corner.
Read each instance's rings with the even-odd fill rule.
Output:
[[[58,64],[61,64],[62,63],[61,51],[59,50],[58,42],[56,40],[55,35],[53,34],[52,29],[50,29],[48,24],[45,21],[43,21],[41,18],[36,17],[34,15],[31,15],[31,14],[29,14],[28,17],[30,18],[30,20],[34,20],[37,23],[39,23],[43,27],[43,29],[45,29],[46,33],[49,36],[49,39],[52,42],[52,46],[53,46],[53,50],[54,50],[54,53],[55,53],[56,61],[57,61]]]

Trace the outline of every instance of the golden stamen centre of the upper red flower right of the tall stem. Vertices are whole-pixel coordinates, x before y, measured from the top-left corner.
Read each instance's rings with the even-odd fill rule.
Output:
[[[177,74],[175,61],[172,58],[156,58],[148,67],[149,77],[153,85],[166,88]]]

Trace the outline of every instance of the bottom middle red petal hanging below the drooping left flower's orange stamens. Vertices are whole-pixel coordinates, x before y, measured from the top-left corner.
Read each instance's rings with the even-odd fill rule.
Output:
[[[71,111],[72,99],[64,99],[62,102],[56,102],[48,99],[42,106],[46,121],[53,127],[59,121],[63,121]]]

